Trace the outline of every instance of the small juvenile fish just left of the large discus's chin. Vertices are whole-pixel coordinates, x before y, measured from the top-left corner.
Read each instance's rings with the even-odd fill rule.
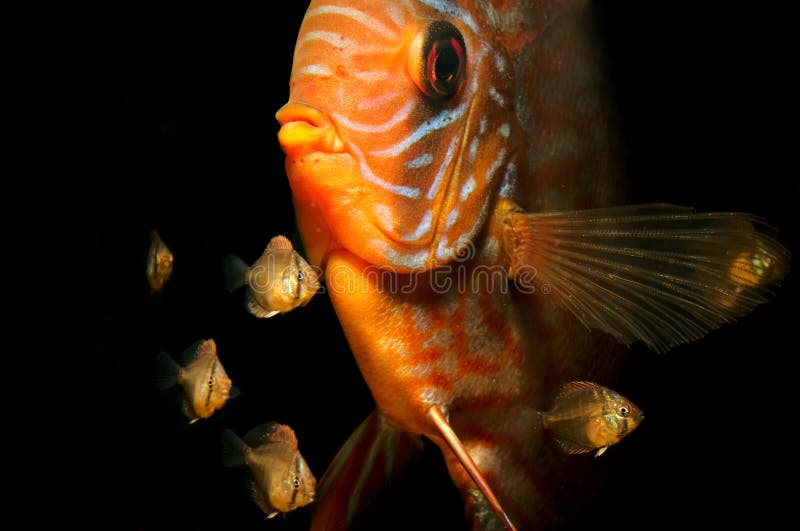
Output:
[[[319,276],[286,236],[275,236],[252,266],[226,256],[225,284],[228,291],[247,285],[247,309],[266,318],[306,305],[319,289]]]

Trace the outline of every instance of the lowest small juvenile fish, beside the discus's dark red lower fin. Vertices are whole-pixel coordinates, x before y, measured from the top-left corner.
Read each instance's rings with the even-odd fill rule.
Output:
[[[222,433],[223,464],[250,469],[253,501],[272,518],[314,501],[317,480],[297,449],[294,431],[269,422],[240,439],[231,430]]]

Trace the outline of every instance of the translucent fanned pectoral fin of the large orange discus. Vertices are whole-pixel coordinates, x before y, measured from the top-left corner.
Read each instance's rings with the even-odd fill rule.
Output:
[[[789,252],[759,218],[666,204],[504,216],[509,276],[588,328],[664,352],[766,302]]]

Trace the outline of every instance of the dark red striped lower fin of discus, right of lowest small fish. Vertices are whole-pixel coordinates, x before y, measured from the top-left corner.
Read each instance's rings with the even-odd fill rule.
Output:
[[[312,531],[349,529],[377,492],[422,451],[418,435],[373,411],[347,439],[317,483]]]

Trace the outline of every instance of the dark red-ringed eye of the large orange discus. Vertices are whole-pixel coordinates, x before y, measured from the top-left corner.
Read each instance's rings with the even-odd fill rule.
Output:
[[[458,28],[436,21],[411,43],[408,70],[417,87],[429,98],[445,99],[458,91],[464,78],[467,49]]]

